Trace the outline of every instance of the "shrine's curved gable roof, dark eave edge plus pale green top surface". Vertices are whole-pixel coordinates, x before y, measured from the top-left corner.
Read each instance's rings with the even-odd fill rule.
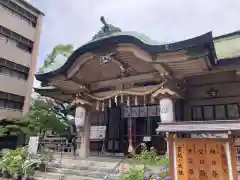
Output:
[[[201,36],[198,36],[192,39],[187,39],[184,41],[169,43],[169,44],[161,44],[139,33],[117,32],[108,36],[104,36],[103,38],[98,38],[97,40],[90,41],[87,44],[81,46],[80,48],[75,50],[66,61],[62,61],[60,63],[59,62],[54,63],[49,68],[50,69],[49,72],[36,74],[36,79],[39,81],[44,81],[49,77],[59,75],[61,73],[65,73],[74,63],[74,61],[82,54],[98,49],[104,46],[105,44],[114,45],[119,43],[133,44],[149,53],[172,52],[172,51],[187,49],[197,45],[209,45],[209,48],[212,49],[212,53],[213,53],[211,61],[213,62],[214,61],[213,59],[215,58],[212,32],[208,32],[206,34],[203,34]]]

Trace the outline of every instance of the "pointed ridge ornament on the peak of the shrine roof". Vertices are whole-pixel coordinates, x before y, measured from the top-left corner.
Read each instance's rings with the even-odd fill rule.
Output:
[[[104,36],[111,35],[116,32],[121,32],[121,29],[118,27],[115,27],[111,24],[108,24],[104,18],[104,16],[100,17],[100,21],[103,23],[103,27],[101,28],[100,31],[98,31],[97,34],[95,34],[92,38],[92,40],[100,39]]]

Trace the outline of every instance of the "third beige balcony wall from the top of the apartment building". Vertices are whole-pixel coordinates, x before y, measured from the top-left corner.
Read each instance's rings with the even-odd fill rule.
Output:
[[[0,84],[0,91],[16,94],[19,96],[26,95],[28,84],[22,79],[0,74]]]

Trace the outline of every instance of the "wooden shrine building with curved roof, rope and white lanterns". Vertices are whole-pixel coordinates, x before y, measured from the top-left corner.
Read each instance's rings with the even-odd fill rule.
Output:
[[[165,44],[101,21],[91,41],[36,74],[35,92],[76,107],[80,156],[138,152],[143,141],[165,154],[168,133],[240,130],[240,31]]]

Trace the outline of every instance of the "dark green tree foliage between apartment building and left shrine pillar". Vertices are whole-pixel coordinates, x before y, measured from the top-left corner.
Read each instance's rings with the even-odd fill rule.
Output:
[[[53,131],[60,135],[68,135],[68,119],[46,99],[38,97],[33,100],[29,112],[18,119],[1,121],[0,136],[44,135],[46,131]]]

